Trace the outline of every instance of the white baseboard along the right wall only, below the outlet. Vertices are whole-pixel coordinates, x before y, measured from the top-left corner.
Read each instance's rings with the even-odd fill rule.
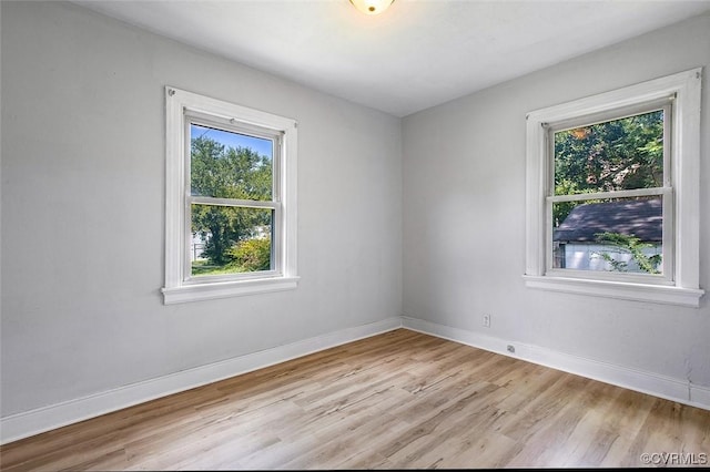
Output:
[[[636,390],[641,393],[710,410],[710,388],[694,386],[687,380],[673,379],[625,366],[582,358],[539,346],[525,345],[480,335],[417,318],[403,317],[402,320],[403,327],[413,331],[449,339],[475,348],[527,360],[540,366],[611,383],[629,390]],[[508,345],[515,347],[515,353],[508,352]]]

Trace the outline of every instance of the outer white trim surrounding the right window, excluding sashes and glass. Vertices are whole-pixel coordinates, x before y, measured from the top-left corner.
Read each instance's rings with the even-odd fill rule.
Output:
[[[698,307],[700,214],[700,93],[702,69],[651,80],[607,93],[537,110],[527,115],[526,270],[530,288]],[[546,127],[579,116],[606,113],[674,95],[671,168],[674,220],[672,285],[642,279],[579,278],[547,270],[547,187],[549,182]],[[594,277],[594,275],[589,275]],[[648,280],[651,280],[650,278]]]

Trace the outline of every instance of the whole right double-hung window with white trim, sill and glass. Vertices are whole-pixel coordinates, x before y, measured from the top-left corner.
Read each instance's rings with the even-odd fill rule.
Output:
[[[700,76],[528,114],[529,287],[698,306]]]

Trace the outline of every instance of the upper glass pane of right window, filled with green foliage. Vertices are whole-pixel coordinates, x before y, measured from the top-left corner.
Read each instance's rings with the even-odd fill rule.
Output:
[[[555,133],[555,195],[663,186],[663,111]]]

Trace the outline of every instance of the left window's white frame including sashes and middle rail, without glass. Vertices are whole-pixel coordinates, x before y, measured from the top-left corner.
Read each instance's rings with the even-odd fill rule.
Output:
[[[272,136],[273,198],[266,202],[195,197],[190,187],[190,123]],[[294,289],[296,270],[297,123],[271,113],[165,88],[165,305]],[[229,276],[191,277],[191,204],[273,209],[273,268]]]

